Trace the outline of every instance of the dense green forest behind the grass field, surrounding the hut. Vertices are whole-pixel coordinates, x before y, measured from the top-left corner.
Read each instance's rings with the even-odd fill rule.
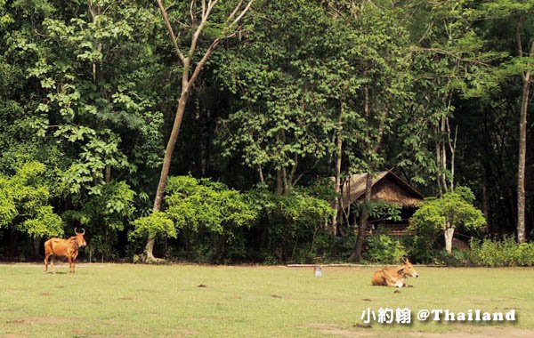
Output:
[[[534,264],[533,13],[0,0],[0,258],[83,228],[92,262],[449,262],[457,229]],[[399,217],[370,183],[358,221],[333,207],[384,170],[431,197],[415,236],[366,235]]]

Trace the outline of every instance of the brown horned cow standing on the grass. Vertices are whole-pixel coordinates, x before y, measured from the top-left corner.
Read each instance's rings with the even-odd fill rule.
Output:
[[[53,237],[44,242],[44,272],[48,270],[50,256],[53,256],[51,262],[53,273],[55,273],[55,267],[53,265],[55,256],[65,256],[69,259],[69,272],[74,273],[74,264],[76,262],[78,249],[87,245],[84,237],[85,229],[82,229],[82,232],[77,232],[77,229],[74,228],[74,233],[76,236],[67,239]]]

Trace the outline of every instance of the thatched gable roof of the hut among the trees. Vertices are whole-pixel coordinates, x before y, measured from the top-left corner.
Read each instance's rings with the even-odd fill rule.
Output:
[[[364,198],[367,173],[356,173],[343,182],[341,196],[343,207]],[[423,202],[423,195],[390,171],[373,174],[372,200],[384,200],[402,206],[416,207]],[[339,208],[339,205],[336,205]]]

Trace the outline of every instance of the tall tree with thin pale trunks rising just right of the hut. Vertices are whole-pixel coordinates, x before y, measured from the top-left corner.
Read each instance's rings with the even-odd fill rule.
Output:
[[[492,61],[503,55],[484,51],[469,2],[440,0],[420,10],[429,18],[412,50],[416,53],[414,71],[418,90],[425,93],[427,109],[433,112],[426,123],[434,131],[436,182],[442,195],[455,186],[458,130],[453,125],[454,101],[461,95],[487,95],[498,83]]]

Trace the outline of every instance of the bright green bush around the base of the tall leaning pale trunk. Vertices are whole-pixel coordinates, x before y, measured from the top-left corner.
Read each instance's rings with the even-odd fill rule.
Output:
[[[166,188],[165,213],[133,222],[130,237],[177,237],[183,243],[174,254],[201,262],[225,262],[245,257],[244,229],[258,211],[247,195],[226,185],[191,176],[175,176]]]

